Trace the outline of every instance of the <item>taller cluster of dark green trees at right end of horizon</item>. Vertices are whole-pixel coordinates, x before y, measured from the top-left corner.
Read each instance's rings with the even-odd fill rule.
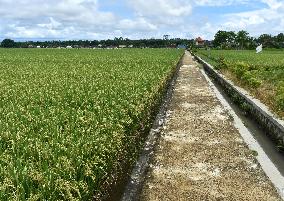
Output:
[[[284,34],[276,36],[262,34],[259,37],[251,37],[247,31],[218,31],[215,34],[212,45],[219,49],[254,49],[262,44],[266,48],[284,48]]]

